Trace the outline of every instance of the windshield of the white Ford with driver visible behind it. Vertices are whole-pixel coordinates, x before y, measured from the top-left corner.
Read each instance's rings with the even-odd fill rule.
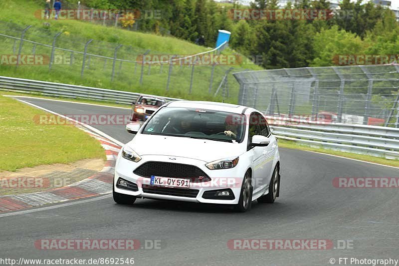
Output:
[[[142,134],[241,142],[245,116],[222,111],[166,107],[147,123]]]

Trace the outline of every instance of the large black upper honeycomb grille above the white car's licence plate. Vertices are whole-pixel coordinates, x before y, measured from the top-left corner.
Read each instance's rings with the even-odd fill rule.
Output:
[[[146,162],[133,171],[142,177],[160,176],[188,178],[191,182],[199,183],[210,181],[210,178],[197,166],[168,162]]]

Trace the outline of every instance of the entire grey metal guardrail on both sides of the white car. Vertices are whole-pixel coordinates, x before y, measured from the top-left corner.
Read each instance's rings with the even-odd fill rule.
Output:
[[[0,90],[131,104],[141,93],[0,76]],[[156,95],[153,95],[156,96]],[[161,96],[156,96],[161,97]],[[181,100],[163,97],[168,101]],[[319,148],[399,159],[399,128],[265,116],[277,138]]]

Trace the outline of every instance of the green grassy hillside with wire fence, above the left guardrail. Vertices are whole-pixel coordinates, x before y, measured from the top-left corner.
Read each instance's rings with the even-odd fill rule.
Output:
[[[150,54],[179,55],[191,55],[210,49],[174,37],[106,27],[88,21],[41,20],[34,16],[35,11],[41,8],[42,1],[2,0],[0,19],[9,23],[0,23],[0,32],[19,37],[21,30],[26,25],[32,25],[32,28],[26,31],[25,38],[46,44],[52,43],[56,32],[63,32],[57,38],[56,46],[83,51],[84,43],[89,39],[93,39],[93,42],[88,46],[88,52],[109,57],[113,57],[114,48],[120,43],[123,46],[118,50],[117,57],[128,60],[137,60],[137,56],[143,54],[147,49],[150,49]],[[49,23],[49,25],[43,23]],[[19,41],[14,43],[13,39],[0,37],[1,54],[16,53],[18,46]],[[33,46],[34,44],[32,43],[24,42],[21,53],[32,54]],[[51,54],[50,47],[36,46],[35,49],[35,54],[47,56]],[[223,51],[223,54],[233,53],[235,52],[231,49]],[[55,50],[55,56],[70,58],[71,53]],[[47,65],[19,66],[18,68],[15,66],[0,65],[0,75],[158,94],[185,99],[221,101],[223,98],[221,90],[216,97],[213,95],[225,71],[230,67],[230,65],[217,65],[215,67],[212,88],[210,93],[208,93],[211,66],[195,66],[192,91],[190,93],[191,66],[173,66],[169,90],[167,90],[169,65],[163,65],[162,67],[153,65],[151,70],[148,65],[145,65],[143,84],[140,85],[140,64],[131,62],[123,62],[121,64],[117,62],[115,65],[114,81],[111,82],[111,59],[98,57],[91,57],[89,59],[87,57],[83,78],[80,75],[82,62],[83,56],[75,53],[73,54],[73,62],[71,64],[54,64],[51,71],[49,71]],[[232,66],[235,68],[232,72],[243,69],[261,69],[253,63],[246,61],[241,65]],[[225,101],[235,103],[238,98],[239,86],[231,74],[228,78],[228,85],[229,97]]]

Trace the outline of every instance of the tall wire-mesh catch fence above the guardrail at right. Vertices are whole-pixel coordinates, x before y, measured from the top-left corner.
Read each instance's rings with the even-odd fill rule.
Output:
[[[233,73],[238,102],[269,116],[399,127],[399,65]]]

